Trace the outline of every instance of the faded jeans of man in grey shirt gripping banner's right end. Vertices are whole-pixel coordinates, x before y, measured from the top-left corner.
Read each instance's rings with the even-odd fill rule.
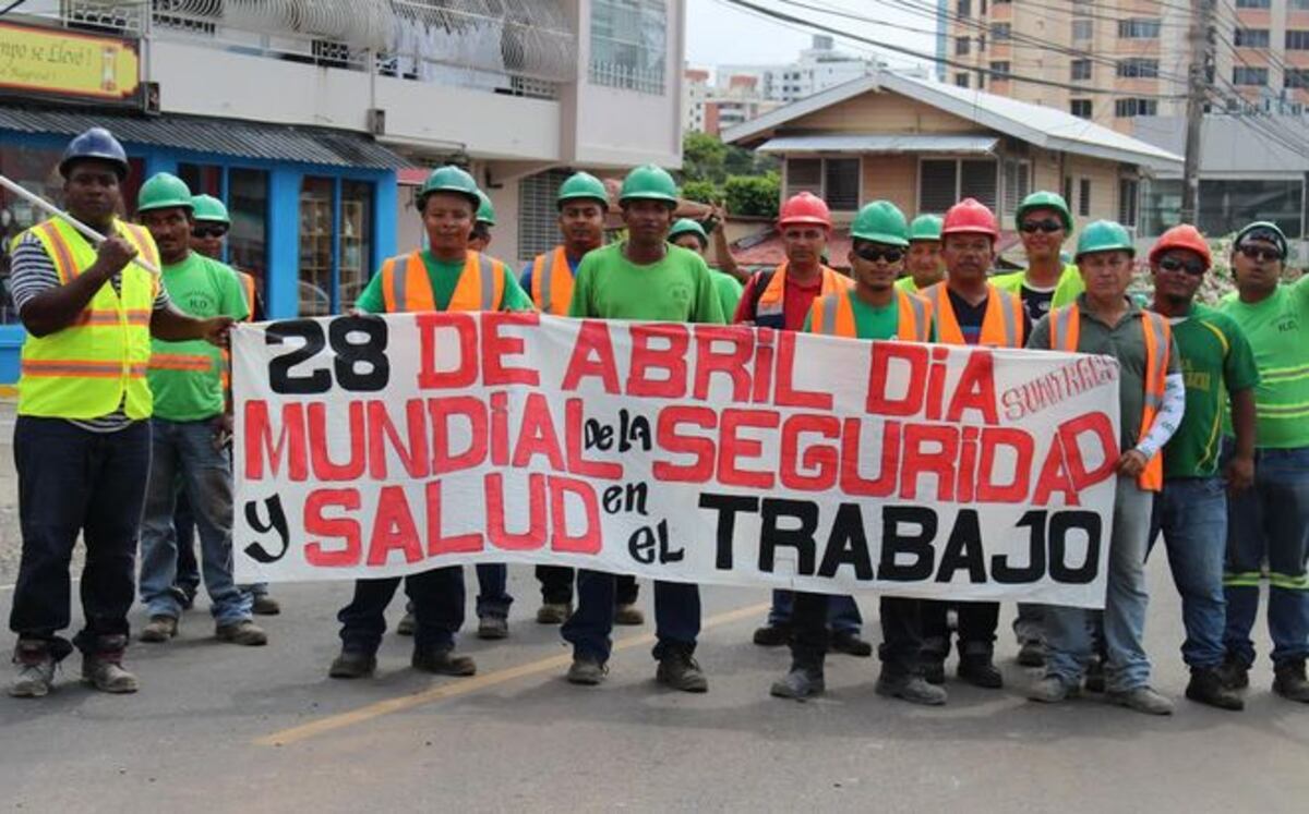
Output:
[[[1149,684],[1149,658],[1143,633],[1149,594],[1145,592],[1145,548],[1153,495],[1128,478],[1118,479],[1114,522],[1109,537],[1105,590],[1105,687],[1127,692]],[[1094,614],[1081,607],[1046,606],[1046,675],[1066,684],[1081,682],[1094,646]]]

